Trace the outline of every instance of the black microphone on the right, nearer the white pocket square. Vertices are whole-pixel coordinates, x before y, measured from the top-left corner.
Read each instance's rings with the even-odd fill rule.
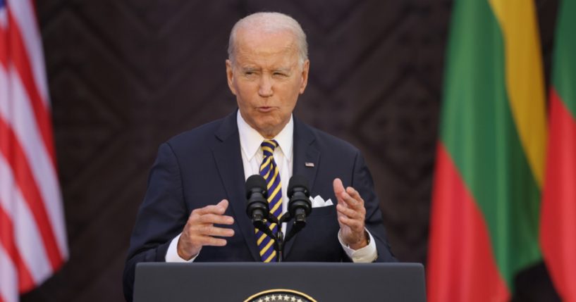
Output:
[[[312,212],[308,180],[303,175],[293,175],[288,182],[288,213],[295,223],[306,224],[306,216]]]

